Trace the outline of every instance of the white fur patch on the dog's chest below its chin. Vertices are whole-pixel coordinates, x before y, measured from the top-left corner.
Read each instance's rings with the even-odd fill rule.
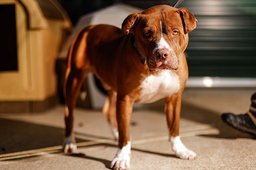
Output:
[[[138,103],[152,103],[176,93],[180,89],[179,76],[172,70],[159,70],[154,75],[144,76]]]

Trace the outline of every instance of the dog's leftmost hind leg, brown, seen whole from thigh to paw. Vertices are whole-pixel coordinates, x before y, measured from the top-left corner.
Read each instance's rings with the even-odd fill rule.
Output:
[[[79,95],[81,86],[84,82],[86,75],[89,73],[89,61],[86,59],[85,36],[80,33],[76,40],[73,42],[70,53],[68,56],[68,65],[66,77],[64,82],[64,98],[66,100],[65,106],[65,123],[66,133],[65,141],[63,143],[64,152],[76,151],[76,140],[74,135],[73,123],[74,115],[73,110],[76,106],[76,100]]]

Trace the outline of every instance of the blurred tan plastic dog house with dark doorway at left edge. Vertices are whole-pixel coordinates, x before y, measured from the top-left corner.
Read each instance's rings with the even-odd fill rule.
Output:
[[[0,1],[0,112],[43,111],[56,103],[56,58],[72,29],[56,0]]]

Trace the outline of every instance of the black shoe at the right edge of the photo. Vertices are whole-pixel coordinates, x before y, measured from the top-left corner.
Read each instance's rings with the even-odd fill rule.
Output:
[[[232,113],[224,113],[221,115],[221,119],[228,125],[256,137],[256,126],[248,114],[234,115]]]

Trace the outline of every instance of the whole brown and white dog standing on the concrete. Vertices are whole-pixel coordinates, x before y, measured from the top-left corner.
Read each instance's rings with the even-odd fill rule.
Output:
[[[172,150],[183,159],[196,159],[179,137],[181,93],[188,79],[184,50],[196,18],[185,8],[153,6],[130,14],[122,30],[109,25],[84,28],[73,41],[64,84],[66,139],[64,152],[76,150],[73,110],[86,75],[93,72],[108,91],[103,113],[118,139],[114,169],[129,169],[129,124],[133,103],[165,99]],[[141,62],[143,61],[143,62]]]

